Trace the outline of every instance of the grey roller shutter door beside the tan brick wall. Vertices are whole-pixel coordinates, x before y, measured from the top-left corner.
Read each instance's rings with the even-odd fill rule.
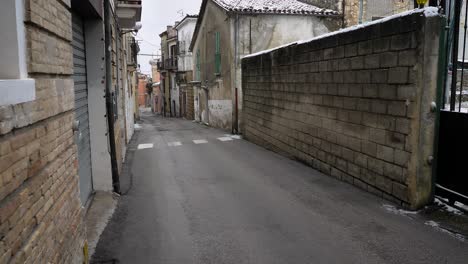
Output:
[[[93,191],[91,171],[91,144],[89,135],[88,84],[86,79],[86,53],[83,20],[76,14],[73,20],[73,80],[75,84],[75,119],[78,127],[75,142],[78,146],[78,175],[80,198],[86,204]]]

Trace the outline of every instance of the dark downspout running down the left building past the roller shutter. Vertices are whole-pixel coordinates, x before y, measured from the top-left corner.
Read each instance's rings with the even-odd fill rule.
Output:
[[[109,146],[112,167],[112,185],[114,192],[120,193],[119,170],[117,168],[117,155],[115,147],[114,132],[114,94],[112,93],[112,53],[111,53],[111,25],[110,25],[110,2],[104,0],[104,27],[105,27],[105,45],[106,45],[106,106],[107,106],[107,124],[109,129]]]

